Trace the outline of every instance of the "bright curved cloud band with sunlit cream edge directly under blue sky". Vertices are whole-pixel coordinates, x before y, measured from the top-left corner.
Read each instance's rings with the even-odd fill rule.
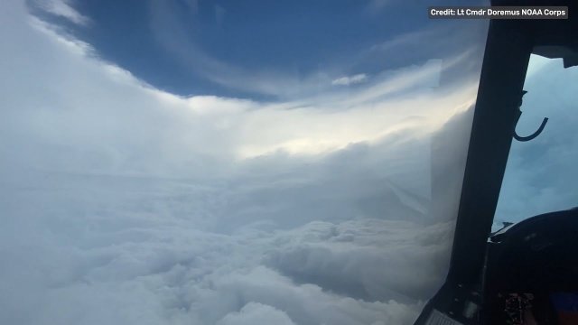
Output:
[[[377,141],[399,128],[405,116],[428,116],[439,123],[453,113],[453,107],[469,100],[474,90],[465,88],[449,96],[433,93],[428,80],[435,79],[442,67],[428,62],[392,72],[350,97],[330,94],[283,104],[181,98],[146,86],[113,65],[86,60],[91,53],[87,44],[66,39],[42,22],[34,21],[34,26],[44,35],[30,31],[25,36],[53,49],[53,62],[42,65],[45,59],[42,53],[32,51],[33,42],[18,42],[14,54],[5,58],[7,72],[25,76],[21,71],[30,71],[38,79],[31,84],[17,77],[3,90],[9,107],[6,114],[12,118],[7,129],[20,125],[21,130],[31,130],[17,137],[26,143],[9,156],[17,159],[29,155],[23,158],[27,163],[42,157],[43,169],[210,172],[218,164],[224,167],[227,162],[278,150],[293,154],[331,152],[351,143]],[[62,47],[66,50],[61,53]],[[77,70],[84,71],[86,77],[79,78]],[[43,84],[54,89],[45,91]],[[29,88],[33,95],[23,97],[23,88]],[[61,89],[70,90],[62,93]],[[406,96],[413,92],[414,98],[386,98],[404,91]],[[123,102],[126,105],[119,105]],[[400,116],[393,107],[405,109],[406,114]],[[123,121],[130,121],[131,127],[126,128]],[[39,145],[38,150],[26,150]]]

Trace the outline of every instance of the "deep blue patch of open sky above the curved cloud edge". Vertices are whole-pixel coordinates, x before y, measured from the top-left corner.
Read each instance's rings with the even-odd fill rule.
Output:
[[[28,5],[88,42],[101,59],[182,96],[311,96],[336,79],[364,76],[361,82],[476,42],[451,23],[424,19],[425,5],[433,2],[30,0]],[[70,10],[55,9],[64,6]],[[415,43],[419,32],[431,36]],[[440,34],[462,42],[443,42]]]

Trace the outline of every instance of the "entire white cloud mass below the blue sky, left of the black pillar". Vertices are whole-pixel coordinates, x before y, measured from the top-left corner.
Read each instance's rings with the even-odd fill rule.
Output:
[[[1,323],[410,324],[443,280],[461,173],[437,214],[428,176],[463,170],[475,85],[432,88],[440,62],[182,98],[5,7]]]

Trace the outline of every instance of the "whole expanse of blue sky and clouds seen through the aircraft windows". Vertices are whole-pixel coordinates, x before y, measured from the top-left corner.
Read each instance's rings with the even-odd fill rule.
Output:
[[[0,322],[415,320],[447,271],[487,22],[91,4],[0,10]],[[545,144],[513,162],[562,151]]]

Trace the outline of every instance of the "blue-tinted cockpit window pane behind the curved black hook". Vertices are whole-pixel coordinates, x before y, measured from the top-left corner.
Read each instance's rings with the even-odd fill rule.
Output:
[[[494,227],[549,211],[578,206],[573,183],[578,137],[575,85],[578,70],[562,60],[532,55],[527,70],[518,135],[532,135],[548,117],[544,131],[528,142],[512,143]]]

